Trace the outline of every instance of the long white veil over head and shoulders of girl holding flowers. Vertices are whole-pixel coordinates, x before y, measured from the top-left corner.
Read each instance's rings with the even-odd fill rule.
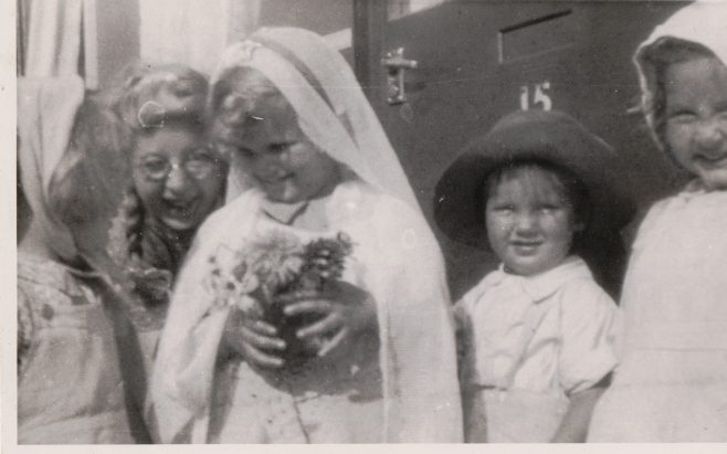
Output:
[[[358,196],[347,199],[350,191],[337,190],[333,198],[343,203],[333,203],[339,207],[333,215],[358,222],[359,261],[368,266],[364,286],[377,303],[384,422],[380,441],[461,441],[441,252],[348,63],[317,34],[282,28],[262,29],[230,46],[212,83],[224,71],[245,66],[260,71],[283,93],[302,130],[320,150],[376,192],[367,196],[376,201],[371,203]],[[239,243],[253,230],[260,192],[245,190],[249,186],[233,158],[228,204],[200,229],[175,288],[148,411],[161,442],[178,441],[185,432],[191,432],[192,442],[207,440],[217,351],[228,312],[210,310],[213,298],[203,276],[215,247]]]

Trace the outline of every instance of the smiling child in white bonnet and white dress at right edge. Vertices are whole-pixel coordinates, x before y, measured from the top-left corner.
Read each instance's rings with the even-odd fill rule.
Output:
[[[642,112],[693,180],[639,228],[619,369],[588,441],[727,442],[727,4],[695,2],[634,57]]]

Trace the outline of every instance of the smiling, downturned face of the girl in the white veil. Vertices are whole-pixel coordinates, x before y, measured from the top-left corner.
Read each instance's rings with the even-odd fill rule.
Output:
[[[330,193],[340,181],[338,163],[305,136],[282,96],[264,98],[247,118],[234,149],[268,200],[315,199]]]

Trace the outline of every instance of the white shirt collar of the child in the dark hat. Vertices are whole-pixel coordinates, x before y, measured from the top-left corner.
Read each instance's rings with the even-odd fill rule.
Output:
[[[506,273],[505,265],[501,264],[497,271],[487,276],[487,279],[492,286],[505,282],[517,283],[535,303],[538,303],[556,293],[567,282],[579,277],[592,278],[593,275],[581,257],[571,255],[558,266],[534,276],[518,276]]]

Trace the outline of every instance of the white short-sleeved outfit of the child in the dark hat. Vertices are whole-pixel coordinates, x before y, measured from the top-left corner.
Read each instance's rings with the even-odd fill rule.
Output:
[[[462,387],[476,400],[470,407],[484,409],[487,442],[549,442],[568,395],[615,367],[618,308],[579,257],[527,277],[501,266],[455,310]]]

